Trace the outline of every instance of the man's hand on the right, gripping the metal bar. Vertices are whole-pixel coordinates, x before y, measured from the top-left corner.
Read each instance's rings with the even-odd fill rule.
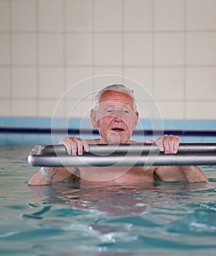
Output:
[[[163,135],[158,140],[146,140],[146,143],[156,143],[160,151],[164,151],[164,154],[177,154],[181,140],[175,135]]]

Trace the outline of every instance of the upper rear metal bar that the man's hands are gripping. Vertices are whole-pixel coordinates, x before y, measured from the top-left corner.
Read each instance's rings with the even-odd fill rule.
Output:
[[[66,154],[63,145],[36,146],[34,154]],[[155,144],[90,144],[90,153],[96,155],[107,154],[150,154],[159,153],[159,148]],[[181,143],[178,153],[216,153],[216,143]]]

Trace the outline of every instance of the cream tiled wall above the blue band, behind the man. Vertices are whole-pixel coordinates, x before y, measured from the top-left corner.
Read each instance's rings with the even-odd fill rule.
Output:
[[[164,119],[214,120],[216,1],[0,0],[0,116],[52,117],[66,89],[104,74],[141,83]],[[104,85],[78,84],[58,116]]]

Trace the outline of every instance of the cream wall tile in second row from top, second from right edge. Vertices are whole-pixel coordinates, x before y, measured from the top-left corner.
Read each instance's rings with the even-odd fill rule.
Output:
[[[156,65],[184,64],[184,34],[182,33],[155,34],[155,64]]]

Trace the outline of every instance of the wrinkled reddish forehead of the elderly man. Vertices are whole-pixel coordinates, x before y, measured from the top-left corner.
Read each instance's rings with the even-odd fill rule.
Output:
[[[114,91],[114,90],[107,90],[104,91],[101,96],[99,97],[99,105],[104,105],[104,103],[110,103],[117,105],[127,105],[134,110],[134,99],[129,94],[123,91]]]

